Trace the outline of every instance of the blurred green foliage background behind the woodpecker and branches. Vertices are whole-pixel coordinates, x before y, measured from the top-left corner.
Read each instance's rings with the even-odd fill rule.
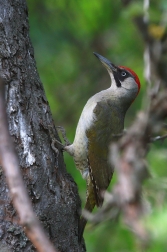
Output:
[[[146,83],[143,78],[144,43],[133,17],[143,12],[143,1],[125,7],[114,0],[27,0],[30,36],[46,96],[56,125],[66,128],[72,142],[83,106],[90,96],[109,87],[107,71],[94,57],[102,54],[114,64],[132,68],[140,77],[141,92],[126,116],[130,125],[143,107]],[[165,0],[152,0],[150,19],[159,22],[167,15]],[[66,166],[78,184],[82,201],[85,182],[71,157],[65,154]],[[146,251],[167,251],[167,155],[166,144],[150,147],[147,158],[151,177],[144,185],[150,214],[145,223],[151,232]],[[118,221],[109,221],[85,231],[87,251],[143,251],[140,242]]]

